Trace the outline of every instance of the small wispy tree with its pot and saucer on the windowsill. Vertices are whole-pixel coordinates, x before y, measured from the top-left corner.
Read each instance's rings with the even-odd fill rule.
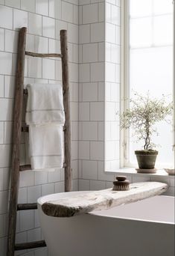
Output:
[[[155,150],[152,135],[157,134],[155,124],[159,121],[168,121],[166,118],[173,113],[173,103],[162,99],[150,98],[149,92],[145,97],[135,94],[136,99],[130,100],[130,109],[120,115],[121,129],[133,128],[138,140],[144,141],[143,149],[136,150],[138,172],[156,172],[154,169],[158,151]],[[158,135],[158,134],[157,134]],[[146,170],[145,170],[146,169]]]

